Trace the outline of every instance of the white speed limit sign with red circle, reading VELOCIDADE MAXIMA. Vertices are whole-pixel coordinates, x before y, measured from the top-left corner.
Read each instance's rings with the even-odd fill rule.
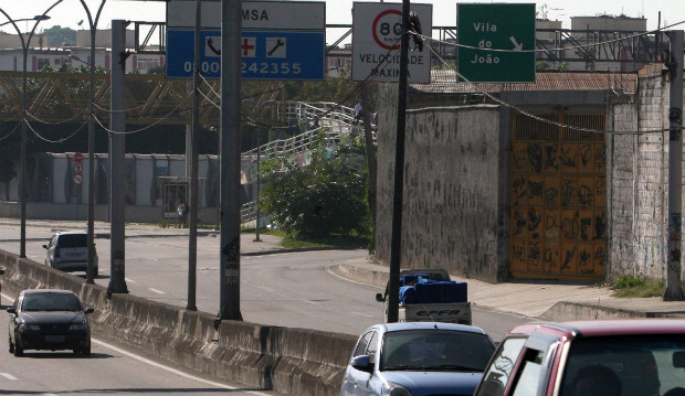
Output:
[[[432,4],[411,4],[422,26],[431,35]],[[401,3],[355,2],[352,6],[352,79],[396,83],[400,76],[400,39],[402,36]],[[410,42],[410,50],[413,49]],[[409,82],[430,84],[431,52],[409,52]]]

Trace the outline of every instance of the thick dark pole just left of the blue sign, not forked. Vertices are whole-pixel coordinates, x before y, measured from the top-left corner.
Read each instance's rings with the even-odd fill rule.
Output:
[[[127,21],[112,21],[112,115],[109,116],[109,207],[110,274],[107,293],[127,293],[125,279],[126,244],[126,114],[124,75],[126,73]]]

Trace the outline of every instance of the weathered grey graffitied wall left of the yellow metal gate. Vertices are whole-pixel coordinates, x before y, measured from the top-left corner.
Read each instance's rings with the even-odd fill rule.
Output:
[[[397,103],[397,87],[381,88]],[[376,255],[390,263],[396,114],[379,113]],[[401,266],[497,280],[497,106],[408,110]]]

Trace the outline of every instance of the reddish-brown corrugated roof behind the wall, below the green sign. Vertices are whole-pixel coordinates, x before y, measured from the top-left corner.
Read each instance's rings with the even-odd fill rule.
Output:
[[[570,73],[540,72],[535,83],[457,83],[454,71],[432,71],[431,84],[412,84],[423,93],[478,93],[496,94],[516,90],[622,90],[633,94],[637,86],[636,73]],[[475,85],[475,86],[474,86]]]

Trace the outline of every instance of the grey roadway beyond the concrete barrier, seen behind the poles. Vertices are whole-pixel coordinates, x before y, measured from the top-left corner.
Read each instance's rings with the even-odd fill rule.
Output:
[[[18,253],[19,227],[0,226],[0,248]],[[27,256],[43,263],[51,229],[27,227]],[[252,242],[251,242],[252,243]],[[99,255],[98,285],[109,282],[109,240],[96,239]],[[139,297],[185,307],[188,283],[188,237],[130,237],[126,239],[126,282]],[[382,321],[378,287],[341,279],[328,267],[367,255],[366,250],[281,253],[241,258],[241,312],[249,322],[359,334]],[[219,311],[219,238],[198,238],[197,307]],[[83,272],[75,272],[84,276]],[[474,309],[474,324],[495,341],[519,318]]]

